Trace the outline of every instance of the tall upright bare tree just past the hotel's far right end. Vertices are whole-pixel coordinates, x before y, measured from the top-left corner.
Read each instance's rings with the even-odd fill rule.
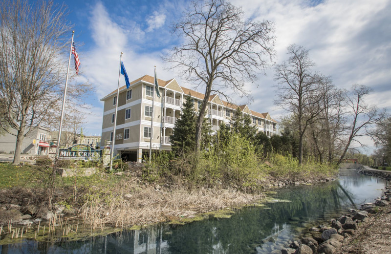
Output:
[[[325,77],[312,72],[315,65],[303,46],[291,44],[287,48],[289,60],[275,68],[275,79],[278,81],[278,99],[281,106],[294,116],[299,134],[299,164],[303,160],[303,140],[307,127],[318,120],[323,110],[320,84]]]

